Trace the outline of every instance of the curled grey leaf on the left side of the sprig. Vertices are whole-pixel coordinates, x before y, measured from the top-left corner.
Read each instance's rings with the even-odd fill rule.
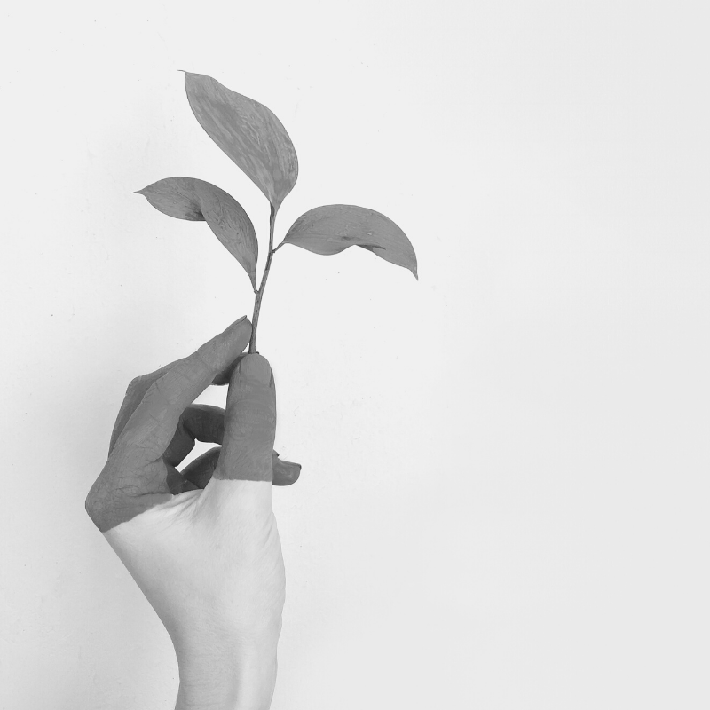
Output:
[[[136,194],[142,194],[155,209],[170,217],[207,222],[256,288],[256,232],[248,214],[231,194],[194,177],[167,177]]]

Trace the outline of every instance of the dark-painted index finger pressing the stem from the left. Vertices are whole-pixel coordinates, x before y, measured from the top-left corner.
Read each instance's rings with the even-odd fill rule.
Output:
[[[251,337],[246,316],[177,360],[148,387],[116,441],[116,447],[140,448],[146,461],[156,461],[170,444],[185,407],[240,355]]]

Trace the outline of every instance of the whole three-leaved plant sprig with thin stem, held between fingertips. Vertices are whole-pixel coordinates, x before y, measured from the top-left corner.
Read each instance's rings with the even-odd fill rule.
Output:
[[[286,129],[266,106],[227,89],[211,76],[185,72],[185,91],[195,118],[209,138],[271,204],[269,249],[259,287],[256,288],[256,231],[245,209],[229,193],[193,177],[168,177],[137,192],[170,217],[207,222],[247,272],[255,294],[249,352],[256,352],[256,328],[273,255],[284,244],[324,256],[358,246],[405,267],[419,278],[414,247],[406,234],[389,217],[355,205],[324,205],[305,212],[291,225],[279,246],[273,248],[276,215],[298,177],[296,149]]]

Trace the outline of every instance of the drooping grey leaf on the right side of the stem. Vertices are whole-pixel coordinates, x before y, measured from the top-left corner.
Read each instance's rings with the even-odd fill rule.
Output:
[[[356,245],[391,264],[404,266],[419,280],[412,242],[389,217],[374,209],[354,205],[310,209],[291,225],[283,243],[326,256]]]

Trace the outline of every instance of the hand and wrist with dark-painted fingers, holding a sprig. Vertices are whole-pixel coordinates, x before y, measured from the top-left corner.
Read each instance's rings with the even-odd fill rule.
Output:
[[[272,483],[300,466],[273,452],[271,367],[244,355],[251,324],[130,383],[86,509],[168,629],[177,708],[268,708],[286,588]],[[226,412],[194,406],[229,382]],[[194,440],[215,442],[186,467]]]

